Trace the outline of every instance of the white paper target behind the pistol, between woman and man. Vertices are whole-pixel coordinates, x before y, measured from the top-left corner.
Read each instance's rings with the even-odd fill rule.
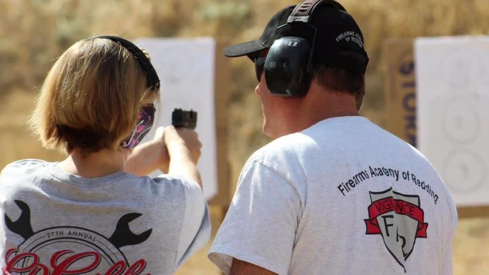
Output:
[[[198,168],[204,197],[210,200],[218,191],[214,114],[215,41],[212,38],[144,38],[137,40],[136,44],[149,52],[161,81],[155,124],[143,142],[153,139],[157,127],[172,124],[174,108],[196,111],[196,131],[203,144]],[[156,171],[150,176],[161,174],[161,171]]]

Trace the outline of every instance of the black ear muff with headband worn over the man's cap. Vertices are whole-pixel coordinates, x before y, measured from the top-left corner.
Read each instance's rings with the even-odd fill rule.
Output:
[[[313,31],[309,41],[302,37],[283,37],[274,41],[266,56],[265,81],[270,94],[283,97],[304,97],[309,91],[312,79],[312,57],[316,42],[316,28],[310,24],[314,10],[322,4],[329,4],[338,10],[345,10],[335,1],[306,0],[297,5],[287,23],[279,29],[294,24],[307,24]],[[301,28],[301,30],[304,30]],[[311,44],[310,44],[311,43]]]

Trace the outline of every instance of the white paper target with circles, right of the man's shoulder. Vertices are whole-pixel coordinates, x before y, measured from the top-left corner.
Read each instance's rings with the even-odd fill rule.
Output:
[[[489,37],[415,42],[418,147],[458,206],[489,205]]]

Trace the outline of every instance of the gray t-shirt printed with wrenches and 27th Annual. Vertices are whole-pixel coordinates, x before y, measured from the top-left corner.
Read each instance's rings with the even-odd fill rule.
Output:
[[[192,180],[89,179],[35,159],[0,175],[0,267],[11,274],[172,274],[209,236]]]

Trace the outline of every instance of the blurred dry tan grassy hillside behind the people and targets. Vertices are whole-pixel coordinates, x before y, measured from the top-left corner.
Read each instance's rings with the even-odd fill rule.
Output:
[[[26,130],[38,88],[61,53],[98,34],[140,37],[210,36],[229,43],[257,39],[268,19],[294,0],[0,0],[0,169],[22,158],[60,160]],[[363,31],[370,63],[362,115],[385,126],[382,45],[388,38],[486,35],[488,0],[341,0]],[[270,140],[261,133],[254,67],[231,60],[228,160],[235,185],[247,158]],[[165,93],[166,91],[162,91]],[[177,91],[168,91],[169,93]],[[213,234],[221,209],[211,207]],[[454,240],[455,274],[489,273],[489,219],[461,219]],[[219,274],[210,246],[177,274]]]

